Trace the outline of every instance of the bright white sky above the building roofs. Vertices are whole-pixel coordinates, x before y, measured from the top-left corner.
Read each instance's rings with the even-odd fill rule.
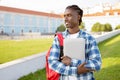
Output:
[[[107,2],[113,5],[120,0],[0,0],[0,5],[60,14],[64,12],[68,5],[76,4],[80,8],[85,8]]]

